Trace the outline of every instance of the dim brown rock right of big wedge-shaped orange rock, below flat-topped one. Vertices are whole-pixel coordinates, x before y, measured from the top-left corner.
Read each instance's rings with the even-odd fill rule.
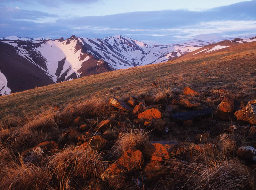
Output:
[[[146,181],[159,179],[161,177],[164,177],[168,171],[169,169],[166,167],[163,167],[161,162],[150,160],[144,167],[143,178]]]

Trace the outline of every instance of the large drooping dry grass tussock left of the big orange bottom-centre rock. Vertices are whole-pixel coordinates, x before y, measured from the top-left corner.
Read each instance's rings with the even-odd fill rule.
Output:
[[[47,167],[58,181],[74,177],[98,181],[106,169],[106,163],[102,161],[101,156],[101,153],[94,151],[90,146],[80,146],[75,149],[67,147],[47,158],[49,160]]]

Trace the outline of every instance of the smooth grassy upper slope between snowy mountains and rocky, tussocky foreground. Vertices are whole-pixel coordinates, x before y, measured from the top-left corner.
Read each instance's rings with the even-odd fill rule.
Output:
[[[206,95],[223,89],[245,101],[255,98],[256,42],[234,43],[232,47],[206,55],[193,54],[166,63],[87,76],[3,96],[0,97],[0,118],[38,114],[47,106],[67,105],[91,97],[102,99],[149,92],[156,80],[178,89],[188,85]]]

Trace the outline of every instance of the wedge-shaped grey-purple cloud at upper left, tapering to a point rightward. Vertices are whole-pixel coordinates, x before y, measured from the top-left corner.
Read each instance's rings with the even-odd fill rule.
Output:
[[[49,14],[41,11],[28,11],[20,9],[19,7],[9,7],[5,5],[0,5],[1,20],[4,19],[29,19],[38,20],[47,17],[58,18],[57,14]],[[1,21],[0,21],[1,22]]]

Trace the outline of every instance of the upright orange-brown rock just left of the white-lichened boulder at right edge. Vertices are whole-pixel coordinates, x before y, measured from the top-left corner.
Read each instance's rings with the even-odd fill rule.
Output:
[[[228,120],[234,110],[234,100],[226,96],[218,105],[216,114],[222,120]]]

